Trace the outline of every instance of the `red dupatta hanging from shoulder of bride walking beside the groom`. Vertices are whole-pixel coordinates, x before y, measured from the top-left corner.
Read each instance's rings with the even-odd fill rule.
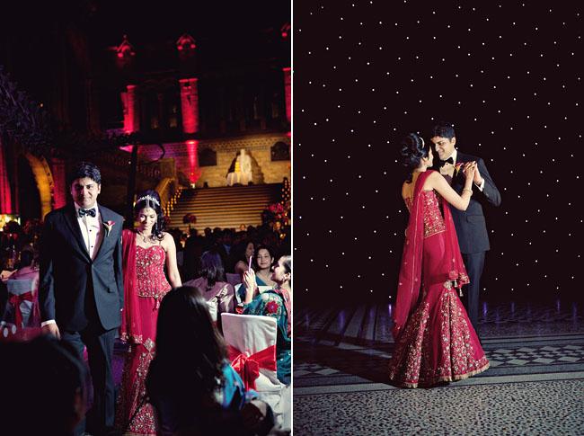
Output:
[[[136,290],[136,233],[124,230],[121,235],[122,268],[124,271],[124,308],[121,314],[119,338],[130,343],[142,343],[142,326]]]

